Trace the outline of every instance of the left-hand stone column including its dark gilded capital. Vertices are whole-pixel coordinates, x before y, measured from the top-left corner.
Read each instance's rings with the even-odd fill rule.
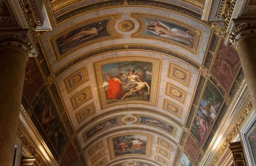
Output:
[[[25,77],[32,44],[16,35],[0,37],[0,166],[11,166]]]

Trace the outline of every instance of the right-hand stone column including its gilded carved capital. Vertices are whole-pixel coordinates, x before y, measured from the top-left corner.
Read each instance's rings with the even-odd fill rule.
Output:
[[[256,23],[237,27],[230,35],[238,52],[247,87],[256,108]]]

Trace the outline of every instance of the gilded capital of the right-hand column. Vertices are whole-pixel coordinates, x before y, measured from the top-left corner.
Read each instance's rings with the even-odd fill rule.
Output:
[[[254,34],[256,32],[256,23],[236,24],[235,29],[230,33],[230,42],[235,45],[236,42],[244,36]],[[232,45],[231,43],[228,46]]]

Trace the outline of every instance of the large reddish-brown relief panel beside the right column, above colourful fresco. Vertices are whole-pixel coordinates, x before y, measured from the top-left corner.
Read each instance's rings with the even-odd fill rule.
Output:
[[[223,41],[221,41],[215,62],[212,66],[212,74],[225,90],[229,90],[239,66],[240,60],[238,53],[233,48],[226,47]]]

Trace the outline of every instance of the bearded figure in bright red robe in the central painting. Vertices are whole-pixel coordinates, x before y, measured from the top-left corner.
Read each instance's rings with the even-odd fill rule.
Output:
[[[126,83],[122,82],[122,79],[120,79],[122,74],[118,73],[114,78],[110,78],[108,73],[106,73],[106,76],[108,77],[107,98],[117,100],[118,98],[125,96],[125,91],[122,87],[122,84],[126,85]]]

